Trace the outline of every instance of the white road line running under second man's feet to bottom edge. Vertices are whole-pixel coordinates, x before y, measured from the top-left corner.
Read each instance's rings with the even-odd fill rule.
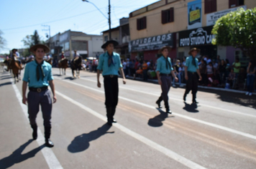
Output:
[[[69,102],[72,102],[74,105],[77,105],[78,107],[81,107],[83,110],[86,110],[86,112],[91,113],[91,115],[94,115],[98,117],[99,119],[103,120],[106,122],[106,117],[104,115],[101,115],[99,112],[96,112],[94,110],[91,110],[90,108],[86,107],[85,105],[82,105],[80,102],[77,102],[76,100],[71,99],[70,97],[63,95],[62,93],[55,91],[57,95],[60,95],[63,97],[65,100],[68,100]],[[162,145],[159,145],[152,140],[148,139],[147,137],[144,137],[137,132],[133,132],[132,130],[129,130],[127,127],[124,127],[123,125],[120,124],[113,124],[114,127],[118,128],[122,132],[126,133],[129,136],[134,137],[135,139],[139,140],[142,143],[145,143],[146,145],[150,146],[151,148],[160,151],[160,153],[163,153],[167,155],[169,158],[173,158],[173,160],[178,161],[179,163],[186,165],[188,168],[204,168],[201,165],[198,165],[197,163],[194,163],[191,160],[188,160],[186,158],[183,158],[183,156],[178,155],[177,153],[169,150],[168,148],[163,147]]]

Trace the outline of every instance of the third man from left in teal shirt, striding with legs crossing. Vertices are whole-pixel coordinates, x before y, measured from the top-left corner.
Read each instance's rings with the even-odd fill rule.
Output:
[[[157,69],[155,70],[157,72],[158,83],[161,85],[162,89],[161,96],[158,98],[156,104],[159,108],[162,108],[160,102],[163,100],[165,102],[165,109],[167,113],[172,113],[168,103],[168,92],[172,82],[171,75],[173,75],[175,81],[178,82],[178,78],[173,72],[173,66],[170,57],[168,57],[170,49],[170,47],[165,46],[159,50],[159,53],[163,56],[157,59]]]

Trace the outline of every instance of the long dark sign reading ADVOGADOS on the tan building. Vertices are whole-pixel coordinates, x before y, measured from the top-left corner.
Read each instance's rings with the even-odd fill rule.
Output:
[[[173,47],[173,34],[162,34],[130,41],[129,52],[157,50],[163,46]]]

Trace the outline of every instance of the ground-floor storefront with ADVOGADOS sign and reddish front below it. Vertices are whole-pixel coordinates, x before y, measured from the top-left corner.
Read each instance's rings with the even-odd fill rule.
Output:
[[[129,42],[129,52],[131,59],[144,59],[153,62],[157,60],[158,50],[163,46],[169,46],[173,49],[169,53],[170,58],[176,57],[175,34],[162,34],[155,37],[135,39]]]

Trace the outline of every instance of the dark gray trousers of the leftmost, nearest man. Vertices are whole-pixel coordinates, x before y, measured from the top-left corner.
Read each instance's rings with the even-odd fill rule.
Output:
[[[39,112],[39,106],[41,105],[44,126],[51,127],[52,97],[50,90],[44,90],[42,92],[29,91],[27,95],[27,105],[30,125],[37,124],[36,117]]]

